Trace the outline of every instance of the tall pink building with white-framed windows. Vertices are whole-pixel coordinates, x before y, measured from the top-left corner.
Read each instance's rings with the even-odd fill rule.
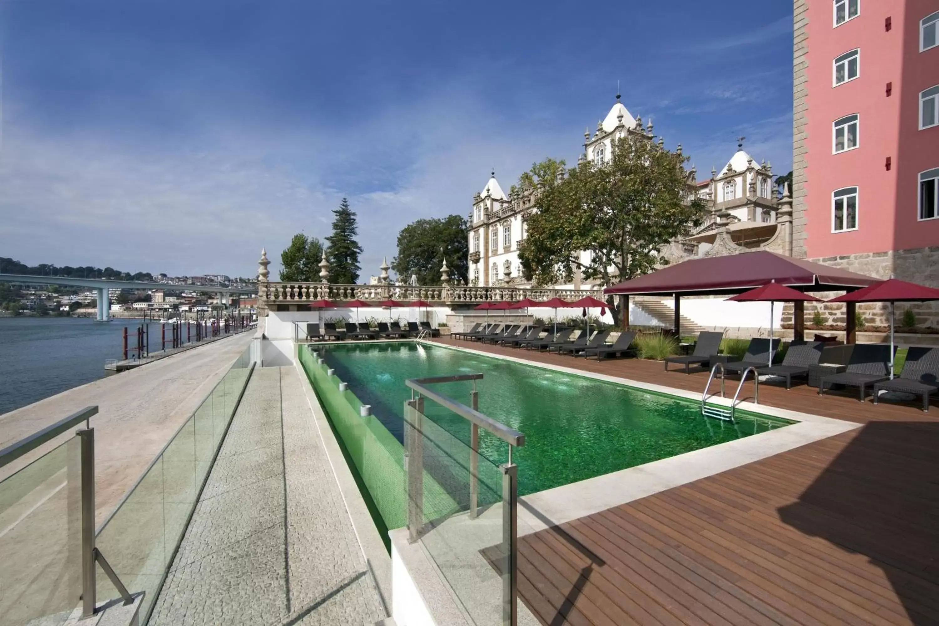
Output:
[[[939,0],[795,0],[793,255],[939,286]]]

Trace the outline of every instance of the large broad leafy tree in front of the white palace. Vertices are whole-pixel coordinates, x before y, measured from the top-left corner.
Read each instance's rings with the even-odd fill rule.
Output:
[[[606,163],[584,161],[566,177],[558,176],[560,161],[535,163],[519,180],[539,191],[518,252],[525,277],[571,282],[579,270],[584,279],[609,286],[665,263],[661,247],[704,217],[703,201],[688,201],[685,160],[627,135],[614,143]],[[608,302],[619,315],[615,298]]]

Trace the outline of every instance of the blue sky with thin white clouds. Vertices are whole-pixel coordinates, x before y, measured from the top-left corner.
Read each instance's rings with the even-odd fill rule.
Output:
[[[793,4],[0,0],[0,256],[272,276],[347,197],[362,280],[615,101],[710,176],[792,165]]]

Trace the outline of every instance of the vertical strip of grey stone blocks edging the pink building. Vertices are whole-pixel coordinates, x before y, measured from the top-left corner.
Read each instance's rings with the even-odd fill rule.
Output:
[[[793,256],[806,256],[808,205],[808,0],[793,4]]]

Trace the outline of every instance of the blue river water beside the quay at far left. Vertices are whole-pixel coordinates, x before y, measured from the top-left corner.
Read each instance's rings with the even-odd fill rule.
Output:
[[[125,326],[136,344],[136,319],[0,317],[0,414],[114,374],[104,361],[120,359]],[[159,350],[160,325],[149,326],[150,348]]]

